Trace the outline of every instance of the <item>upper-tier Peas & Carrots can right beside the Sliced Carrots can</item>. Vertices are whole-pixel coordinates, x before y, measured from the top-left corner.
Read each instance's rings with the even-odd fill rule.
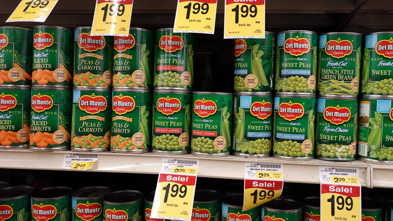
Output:
[[[113,36],[91,36],[91,27],[74,32],[74,86],[111,87]]]

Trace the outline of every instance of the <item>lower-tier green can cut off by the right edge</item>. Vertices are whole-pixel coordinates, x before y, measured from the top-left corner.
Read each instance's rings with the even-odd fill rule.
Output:
[[[359,102],[360,160],[393,163],[393,96],[364,95]]]

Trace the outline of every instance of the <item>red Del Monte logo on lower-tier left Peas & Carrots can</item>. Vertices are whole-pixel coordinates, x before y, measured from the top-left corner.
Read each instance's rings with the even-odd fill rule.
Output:
[[[98,114],[105,111],[107,106],[106,98],[104,96],[83,95],[79,98],[79,108],[88,114]]]

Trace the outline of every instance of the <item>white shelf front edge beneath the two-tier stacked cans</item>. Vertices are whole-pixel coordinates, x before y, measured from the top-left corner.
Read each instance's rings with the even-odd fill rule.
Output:
[[[0,150],[0,168],[32,170],[60,169],[64,154],[80,153],[74,151],[34,152],[30,150]],[[244,162],[266,162],[284,164],[284,181],[293,183],[319,183],[319,166],[359,168],[359,180],[362,186],[371,187],[370,168],[362,161],[325,161],[312,159],[308,161],[288,161],[268,158],[201,157],[191,154],[158,155],[154,153],[123,154],[112,152],[88,153],[98,154],[98,160],[88,172],[158,174],[161,170],[162,157],[178,159],[199,159],[200,177],[221,179],[243,179]],[[393,179],[393,178],[391,178]],[[390,185],[392,185],[390,183]]]

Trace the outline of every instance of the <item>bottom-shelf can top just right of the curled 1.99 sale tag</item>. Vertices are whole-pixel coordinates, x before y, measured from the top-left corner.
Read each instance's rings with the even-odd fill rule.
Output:
[[[262,204],[261,217],[263,220],[301,221],[302,209],[303,205],[296,200],[277,198]]]

